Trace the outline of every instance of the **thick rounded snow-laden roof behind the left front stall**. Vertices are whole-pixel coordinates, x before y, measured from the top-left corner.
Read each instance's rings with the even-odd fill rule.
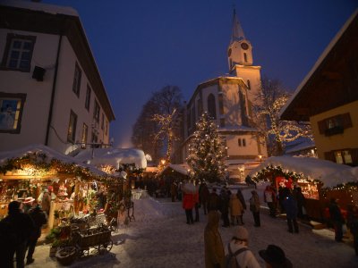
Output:
[[[116,169],[121,163],[134,163],[136,168],[145,169],[147,160],[144,152],[134,148],[94,148],[87,149],[76,155],[75,158],[83,163],[94,165],[109,164]]]

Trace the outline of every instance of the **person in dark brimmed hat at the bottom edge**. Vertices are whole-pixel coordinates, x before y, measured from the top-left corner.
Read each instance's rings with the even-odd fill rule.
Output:
[[[266,249],[260,250],[259,255],[264,259],[266,267],[269,268],[292,268],[293,264],[286,258],[284,250],[276,245],[268,245]]]

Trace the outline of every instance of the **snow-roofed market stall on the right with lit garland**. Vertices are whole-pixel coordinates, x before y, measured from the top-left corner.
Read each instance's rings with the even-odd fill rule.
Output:
[[[313,157],[275,156],[252,170],[252,180],[279,186],[302,188],[306,214],[321,222],[330,197],[340,199],[342,208],[358,205],[358,168]]]

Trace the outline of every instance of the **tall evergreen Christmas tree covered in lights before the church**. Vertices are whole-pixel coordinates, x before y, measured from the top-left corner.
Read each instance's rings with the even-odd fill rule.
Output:
[[[224,157],[225,147],[218,136],[217,125],[210,120],[208,113],[203,113],[196,123],[196,131],[192,135],[186,158],[192,177],[209,182],[223,179]]]

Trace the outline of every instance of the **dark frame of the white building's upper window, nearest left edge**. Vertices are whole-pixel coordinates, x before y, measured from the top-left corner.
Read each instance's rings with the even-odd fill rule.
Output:
[[[20,64],[19,62],[21,62],[21,55],[22,55],[23,51],[26,50],[26,49],[20,49],[21,53],[20,53],[19,58],[17,60],[18,61],[17,66],[19,66],[19,67],[16,67],[16,68],[9,67],[9,63],[10,63],[10,59],[11,59],[10,54],[15,49],[13,47],[13,40],[15,40],[15,39],[22,40],[22,42],[30,41],[30,43],[31,43],[31,47],[30,47],[30,49],[28,49],[28,51],[30,53],[29,54],[29,60],[28,60],[29,65],[26,66],[26,68],[20,68],[20,66],[19,66],[19,64]],[[17,34],[13,34],[13,33],[8,33],[7,36],[6,36],[6,45],[5,45],[5,48],[4,48],[3,61],[1,63],[1,70],[30,72],[30,70],[31,70],[31,62],[32,62],[32,55],[33,55],[33,51],[34,51],[34,48],[35,48],[35,43],[36,43],[36,37],[35,36],[25,36],[25,35],[17,35]],[[21,45],[21,47],[22,46],[23,45]]]

